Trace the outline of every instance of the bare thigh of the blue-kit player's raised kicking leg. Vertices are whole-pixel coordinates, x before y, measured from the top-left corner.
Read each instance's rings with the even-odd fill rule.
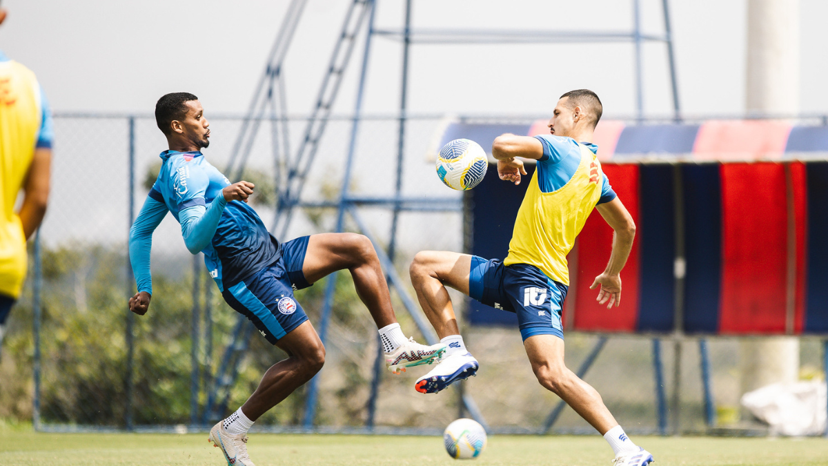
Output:
[[[371,241],[356,233],[320,233],[308,238],[302,273],[308,283],[337,270],[349,269],[368,257],[376,256]]]

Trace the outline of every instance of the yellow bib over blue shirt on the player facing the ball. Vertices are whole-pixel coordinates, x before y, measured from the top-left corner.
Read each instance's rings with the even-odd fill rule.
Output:
[[[523,197],[503,265],[528,264],[569,285],[566,255],[590,213],[615,192],[601,170],[598,146],[572,138],[536,136],[543,156]]]

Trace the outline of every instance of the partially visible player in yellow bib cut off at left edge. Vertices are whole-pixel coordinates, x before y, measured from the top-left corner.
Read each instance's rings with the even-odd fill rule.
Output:
[[[26,240],[46,214],[51,144],[51,111],[35,74],[0,51],[0,347],[26,278]]]

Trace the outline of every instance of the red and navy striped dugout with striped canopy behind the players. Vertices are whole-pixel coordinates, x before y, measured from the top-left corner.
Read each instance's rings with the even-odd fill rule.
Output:
[[[451,125],[444,140],[477,136],[488,148],[501,133],[542,133],[544,123]],[[474,132],[465,133],[464,126]],[[608,310],[595,303],[597,293],[589,287],[609,260],[612,230],[597,211],[590,216],[569,256],[565,329],[828,333],[828,127],[767,120],[609,121],[599,124],[595,142],[638,229],[621,275],[621,305]],[[506,255],[522,195],[521,187],[499,182],[495,170],[467,193],[473,254]],[[683,284],[681,295],[677,283]],[[677,326],[676,307],[682,319]],[[514,321],[479,303],[469,317],[475,324]]]

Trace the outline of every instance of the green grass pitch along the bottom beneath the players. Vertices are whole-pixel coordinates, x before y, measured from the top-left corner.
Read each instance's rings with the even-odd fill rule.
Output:
[[[727,439],[634,437],[662,465],[825,465],[826,439]],[[257,466],[456,464],[438,437],[327,434],[253,434],[248,443]],[[464,464],[610,466],[609,446],[599,436],[489,438],[479,459]],[[0,431],[0,464],[106,466],[132,464],[226,464],[207,434],[38,434]]]

